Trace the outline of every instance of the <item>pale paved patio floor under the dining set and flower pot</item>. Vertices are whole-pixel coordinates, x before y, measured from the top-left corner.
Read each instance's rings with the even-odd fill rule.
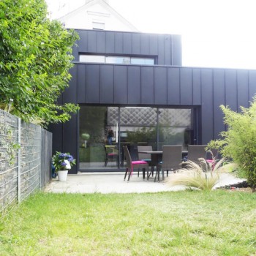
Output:
[[[45,192],[67,192],[67,193],[143,193],[143,192],[165,192],[186,189],[182,185],[171,186],[169,179],[179,173],[169,173],[165,181],[154,182],[143,181],[142,176],[134,173],[130,181],[124,181],[124,173],[78,173],[68,175],[67,181],[58,181],[53,178],[45,188]],[[236,178],[230,173],[222,173],[217,187],[237,184],[244,181]]]

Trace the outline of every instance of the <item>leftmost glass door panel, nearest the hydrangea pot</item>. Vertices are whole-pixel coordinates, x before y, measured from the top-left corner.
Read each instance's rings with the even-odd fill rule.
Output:
[[[107,171],[118,169],[118,108],[109,116],[108,107],[81,106],[79,129],[80,170]],[[110,121],[113,123],[110,123]],[[108,133],[113,132],[108,143]]]

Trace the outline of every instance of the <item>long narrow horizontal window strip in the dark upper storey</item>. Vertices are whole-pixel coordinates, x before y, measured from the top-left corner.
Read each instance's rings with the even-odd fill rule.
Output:
[[[139,65],[154,65],[154,58],[147,57],[129,57],[129,56],[102,56],[102,55],[86,55],[80,54],[80,62],[93,63],[110,63],[110,64],[139,64]]]

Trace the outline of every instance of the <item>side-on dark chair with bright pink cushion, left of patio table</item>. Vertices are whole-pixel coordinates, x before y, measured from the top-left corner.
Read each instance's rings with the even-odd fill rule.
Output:
[[[127,178],[127,173],[129,173],[128,180],[127,180],[129,181],[129,178],[132,176],[132,172],[134,168],[143,170],[143,179],[145,179],[145,173],[147,172],[147,181],[148,181],[148,163],[146,161],[140,161],[140,160],[132,161],[132,157],[129,154],[129,150],[127,146],[124,146],[123,148],[124,148],[124,157],[127,161],[127,168],[124,174],[124,181]]]

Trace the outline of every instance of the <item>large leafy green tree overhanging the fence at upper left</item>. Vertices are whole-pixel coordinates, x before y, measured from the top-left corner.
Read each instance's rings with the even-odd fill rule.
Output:
[[[78,34],[47,18],[44,0],[0,1],[0,108],[25,121],[67,121],[78,110],[57,105],[71,78],[72,45]]]

